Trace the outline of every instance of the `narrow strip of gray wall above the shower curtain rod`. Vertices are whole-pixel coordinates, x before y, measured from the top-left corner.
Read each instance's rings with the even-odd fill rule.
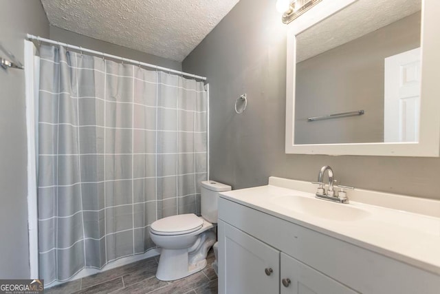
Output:
[[[170,59],[164,59],[159,56],[140,52],[130,48],[125,48],[120,45],[115,45],[98,39],[90,38],[82,34],[76,34],[69,30],[63,30],[62,28],[50,26],[50,39],[68,43],[72,45],[81,46],[91,50],[99,52],[105,52],[108,54],[122,56],[127,59],[134,59],[135,61],[142,61],[145,63],[151,63],[154,65],[160,65],[162,67],[171,68],[173,70],[181,70],[181,63],[178,61],[172,61]],[[118,61],[120,62],[120,61]]]

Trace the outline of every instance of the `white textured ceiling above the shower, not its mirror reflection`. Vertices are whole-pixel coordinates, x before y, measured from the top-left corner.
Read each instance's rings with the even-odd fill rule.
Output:
[[[51,25],[174,61],[239,0],[41,0]]]

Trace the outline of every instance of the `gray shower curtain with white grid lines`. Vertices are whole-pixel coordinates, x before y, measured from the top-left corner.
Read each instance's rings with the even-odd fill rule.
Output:
[[[45,284],[155,248],[150,224],[200,212],[201,82],[41,45],[39,270]]]

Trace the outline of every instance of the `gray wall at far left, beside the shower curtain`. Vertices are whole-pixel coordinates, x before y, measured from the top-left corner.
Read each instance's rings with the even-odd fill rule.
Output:
[[[0,41],[23,63],[26,33],[49,36],[43,6],[0,0],[0,7]],[[24,70],[0,69],[0,99],[0,278],[29,278]]]

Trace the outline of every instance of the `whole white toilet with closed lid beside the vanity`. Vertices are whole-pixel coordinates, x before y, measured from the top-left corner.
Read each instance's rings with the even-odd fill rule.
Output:
[[[151,240],[162,248],[157,279],[178,280],[205,268],[208,250],[217,240],[217,198],[219,192],[230,189],[228,185],[205,180],[201,182],[201,217],[187,213],[151,224]]]

